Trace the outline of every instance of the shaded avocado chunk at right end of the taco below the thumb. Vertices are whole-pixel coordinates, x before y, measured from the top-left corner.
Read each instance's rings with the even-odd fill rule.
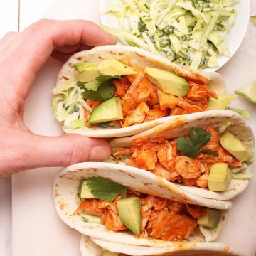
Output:
[[[214,209],[204,208],[201,211],[201,216],[198,218],[198,225],[206,228],[216,228],[220,222],[221,211]]]

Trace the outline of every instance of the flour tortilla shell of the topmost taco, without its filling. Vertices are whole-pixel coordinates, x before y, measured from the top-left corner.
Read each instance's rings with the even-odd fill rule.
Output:
[[[67,81],[76,80],[74,75],[74,65],[81,62],[100,63],[102,60],[116,59],[129,65],[144,69],[146,66],[153,68],[161,68],[164,70],[176,70],[179,65],[171,63],[166,58],[149,53],[146,50],[131,46],[100,46],[92,48],[92,50],[84,50],[79,53],[75,53],[61,68],[58,74],[56,87],[63,85]],[[195,76],[199,73],[196,70],[183,67],[183,69],[192,72]],[[225,82],[218,73],[203,73],[208,78],[208,88],[213,92],[216,92],[218,96],[225,94]],[[87,137],[124,137],[143,132],[151,127],[162,124],[174,117],[162,117],[154,121],[145,122],[142,124],[136,124],[130,127],[124,128],[100,128],[100,127],[85,127],[80,129],[68,129],[63,126],[65,133],[75,133],[84,135]]]

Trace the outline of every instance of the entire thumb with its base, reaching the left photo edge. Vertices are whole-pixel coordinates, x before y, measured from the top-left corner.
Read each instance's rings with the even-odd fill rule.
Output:
[[[44,137],[27,130],[7,128],[1,128],[0,145],[0,178],[38,167],[102,161],[111,154],[110,145],[104,139],[75,134]]]

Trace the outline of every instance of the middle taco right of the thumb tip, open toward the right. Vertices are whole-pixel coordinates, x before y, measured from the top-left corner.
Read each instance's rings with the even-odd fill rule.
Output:
[[[183,115],[110,144],[108,161],[150,171],[204,198],[230,200],[252,178],[252,129],[229,110]]]

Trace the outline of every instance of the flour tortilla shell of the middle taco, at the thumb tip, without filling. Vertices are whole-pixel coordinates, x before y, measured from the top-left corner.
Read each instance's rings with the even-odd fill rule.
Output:
[[[146,136],[149,139],[155,139],[159,137],[174,139],[176,137],[181,137],[188,134],[192,128],[210,125],[211,127],[218,129],[226,122],[234,123],[234,125],[227,128],[228,131],[238,137],[242,142],[250,146],[251,149],[254,149],[255,141],[252,129],[247,126],[245,120],[240,116],[240,114],[230,110],[209,110],[206,112],[186,114],[178,118],[176,117],[169,122],[161,124],[157,127],[149,129],[146,132],[142,132],[132,137],[113,139],[110,144],[113,151],[115,151],[116,148],[129,148],[132,141],[140,137]],[[246,171],[251,172],[251,169],[252,166],[250,165]],[[223,201],[230,200],[235,196],[238,196],[240,193],[245,191],[245,188],[247,188],[248,184],[248,180],[232,179],[227,191],[223,192],[213,192],[209,191],[208,188],[197,188],[178,184],[175,184],[174,186],[198,196],[203,196],[203,198],[212,198]]]

